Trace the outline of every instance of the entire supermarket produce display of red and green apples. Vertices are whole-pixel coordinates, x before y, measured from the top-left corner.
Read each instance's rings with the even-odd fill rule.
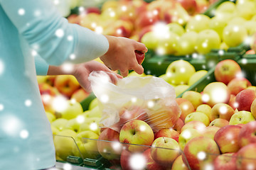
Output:
[[[83,7],[70,0],[63,11],[70,23],[132,38],[157,57],[176,59],[159,77],[130,72],[124,79],[132,83],[117,86],[150,96],[164,84],[174,97],[159,98],[160,91],[125,103],[119,90],[94,91],[92,99],[73,76],[38,76],[58,162],[92,169],[256,169],[256,1],[222,1],[210,16],[204,13],[216,2],[109,0]],[[232,60],[221,57],[241,44],[250,49],[235,51]],[[210,52],[218,57],[211,65]],[[208,67],[186,60],[195,54]],[[137,57],[142,64],[144,56]],[[156,85],[139,93],[152,79]]]

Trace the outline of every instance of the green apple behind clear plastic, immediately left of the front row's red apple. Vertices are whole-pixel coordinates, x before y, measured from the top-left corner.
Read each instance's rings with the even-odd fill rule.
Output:
[[[76,145],[73,145],[74,156],[80,157],[80,154],[82,154],[83,159],[96,159],[99,155],[99,152],[97,152],[98,138],[99,135],[90,130],[79,132],[75,137]]]

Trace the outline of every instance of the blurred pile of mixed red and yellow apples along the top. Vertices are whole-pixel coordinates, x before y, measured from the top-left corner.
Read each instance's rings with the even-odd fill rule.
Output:
[[[68,16],[70,23],[105,35],[122,36],[140,41],[144,33],[156,23],[186,24],[188,18],[206,11],[215,0],[160,0],[146,3],[144,0],[105,1],[101,8],[85,8],[81,3],[79,15]]]

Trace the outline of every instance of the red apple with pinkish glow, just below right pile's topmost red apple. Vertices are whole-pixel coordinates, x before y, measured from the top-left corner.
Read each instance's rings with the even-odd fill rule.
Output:
[[[247,89],[248,86],[252,86],[252,84],[244,77],[237,77],[228,83],[228,89],[230,89],[230,93],[234,95],[237,95],[240,91]]]

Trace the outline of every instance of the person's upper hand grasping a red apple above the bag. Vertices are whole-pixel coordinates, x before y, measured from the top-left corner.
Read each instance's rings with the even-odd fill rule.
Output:
[[[129,38],[105,35],[110,43],[109,50],[100,57],[100,60],[112,70],[119,70],[122,76],[128,75],[129,69],[142,74],[144,69],[137,62],[135,50],[147,52],[146,46]]]

